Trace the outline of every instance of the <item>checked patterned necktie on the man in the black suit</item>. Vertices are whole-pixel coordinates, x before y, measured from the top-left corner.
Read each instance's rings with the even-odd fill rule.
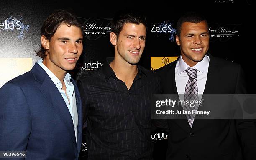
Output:
[[[187,101],[198,101],[198,89],[197,89],[197,70],[195,68],[188,67],[186,70],[187,75],[189,76],[189,80],[187,81],[186,87],[185,87],[185,94],[184,94],[184,100]],[[190,104],[190,103],[189,103]],[[189,105],[184,106],[185,111],[190,111],[191,114],[187,114],[187,119],[189,122],[190,127],[192,127],[195,114],[192,114],[192,110],[197,110],[198,105],[195,105],[194,107],[190,107]]]

